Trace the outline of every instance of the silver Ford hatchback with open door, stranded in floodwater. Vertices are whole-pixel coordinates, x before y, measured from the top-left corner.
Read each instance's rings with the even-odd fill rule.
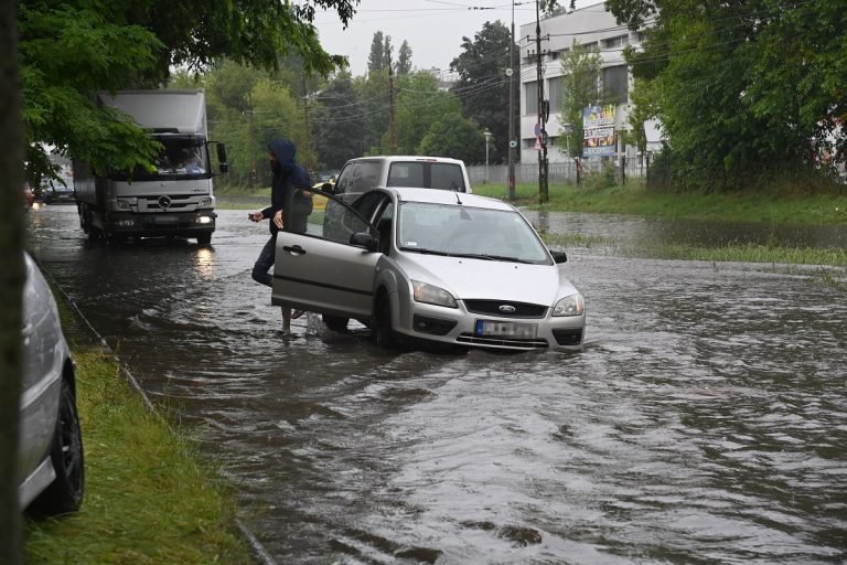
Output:
[[[308,192],[302,194],[308,196]],[[277,237],[272,302],[356,319],[383,347],[582,348],[582,295],[512,205],[474,194],[382,188],[325,195]]]

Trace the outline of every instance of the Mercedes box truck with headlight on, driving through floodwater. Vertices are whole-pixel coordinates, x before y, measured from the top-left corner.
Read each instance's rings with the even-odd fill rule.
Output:
[[[74,162],[79,224],[90,238],[180,236],[208,245],[215,231],[215,173],[210,145],[217,148],[221,172],[226,148],[208,140],[202,89],[122,90],[97,94],[98,102],[130,115],[162,143],[154,171],[108,171]]]

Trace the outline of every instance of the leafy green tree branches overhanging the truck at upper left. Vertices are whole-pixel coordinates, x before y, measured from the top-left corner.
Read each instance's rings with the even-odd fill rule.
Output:
[[[356,0],[315,0],[292,7],[276,0],[169,2],[95,0],[19,2],[23,119],[28,175],[50,173],[40,142],[96,170],[149,166],[156,145],[115,110],[98,107],[96,90],[165,84],[169,70],[203,70],[223,57],[267,70],[278,53],[298,53],[305,68],[329,73],[344,62],[330,55],[312,25],[314,6],[334,8],[343,22]]]

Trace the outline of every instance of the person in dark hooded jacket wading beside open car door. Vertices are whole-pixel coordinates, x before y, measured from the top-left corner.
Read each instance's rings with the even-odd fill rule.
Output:
[[[294,188],[311,188],[312,182],[309,173],[300,164],[294,162],[297,150],[294,143],[288,139],[275,138],[268,143],[268,153],[270,157],[270,170],[274,178],[270,184],[270,206],[253,212],[249,217],[253,222],[261,222],[270,218],[270,239],[265,244],[259,253],[259,258],[253,266],[253,279],[266,286],[271,286],[274,277],[268,273],[274,266],[275,254],[277,249],[277,234],[280,230],[288,232],[301,232],[300,215],[292,212],[294,205]],[[304,215],[303,215],[304,218]],[[290,308],[282,307],[282,332],[291,331],[291,319],[299,318],[302,310],[294,310],[293,315]]]

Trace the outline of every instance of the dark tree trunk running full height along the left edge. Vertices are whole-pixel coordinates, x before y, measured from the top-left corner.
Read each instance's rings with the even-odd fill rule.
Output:
[[[20,565],[18,427],[23,370],[23,160],[15,0],[0,0],[0,563]]]

